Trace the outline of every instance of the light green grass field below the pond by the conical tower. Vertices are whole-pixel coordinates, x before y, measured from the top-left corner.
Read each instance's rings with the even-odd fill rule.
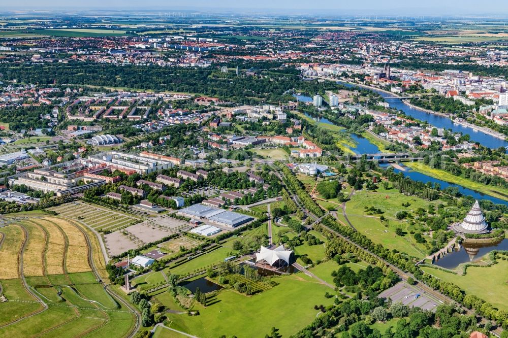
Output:
[[[464,276],[450,274],[431,267],[423,267],[424,272],[444,281],[453,282],[468,294],[474,294],[490,302],[495,308],[508,310],[508,285],[506,271],[508,261],[499,260],[489,267],[468,267]]]

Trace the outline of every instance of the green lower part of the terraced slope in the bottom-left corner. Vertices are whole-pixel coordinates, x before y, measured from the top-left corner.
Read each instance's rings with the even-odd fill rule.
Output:
[[[53,280],[67,281],[54,275]],[[117,303],[97,283],[92,273],[70,274],[70,279],[76,283],[73,287],[52,287],[36,289],[49,309],[43,311],[29,320],[24,320],[10,326],[0,328],[0,336],[35,336],[43,337],[80,336],[89,332],[93,337],[122,337],[134,326],[134,316]],[[29,278],[30,284],[47,285],[41,277]],[[22,316],[26,316],[42,307],[37,302],[16,302],[14,300],[34,301],[23,290],[20,280],[2,281],[4,294],[9,300],[0,303],[0,324]],[[61,288],[62,298],[56,294]],[[97,302],[93,302],[94,300]],[[46,332],[47,331],[47,332]]]

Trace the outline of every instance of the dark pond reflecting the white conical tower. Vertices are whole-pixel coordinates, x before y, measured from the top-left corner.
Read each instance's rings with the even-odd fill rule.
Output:
[[[447,269],[454,269],[462,263],[479,261],[492,250],[508,250],[508,239],[489,244],[464,243],[462,248],[444,255],[434,264]]]

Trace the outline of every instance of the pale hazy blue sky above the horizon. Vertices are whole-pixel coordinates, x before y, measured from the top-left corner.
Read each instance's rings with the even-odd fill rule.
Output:
[[[507,0],[16,0],[7,4],[14,9],[108,8],[116,10],[215,10],[273,11],[281,13],[323,12],[328,14],[393,15],[478,15],[508,14]],[[255,4],[255,5],[254,5]],[[4,6],[2,6],[4,7]],[[5,8],[4,7],[4,8]]]

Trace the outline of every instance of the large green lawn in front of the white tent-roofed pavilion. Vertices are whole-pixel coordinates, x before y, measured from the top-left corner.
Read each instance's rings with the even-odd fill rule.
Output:
[[[200,337],[264,336],[272,326],[283,337],[290,336],[308,325],[316,316],[314,305],[328,306],[333,298],[324,297],[330,289],[298,273],[276,279],[279,285],[255,296],[245,296],[232,290],[219,292],[211,305],[197,304],[200,315],[168,314],[170,327]],[[281,309],[283,311],[281,311]]]

